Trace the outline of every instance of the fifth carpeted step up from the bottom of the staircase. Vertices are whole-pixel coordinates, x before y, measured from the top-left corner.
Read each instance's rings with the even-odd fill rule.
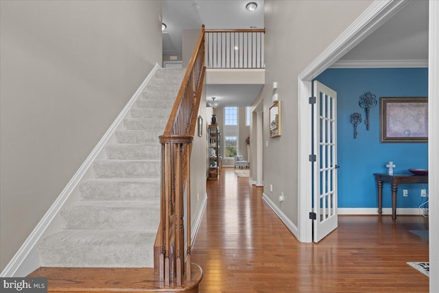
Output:
[[[159,160],[161,145],[158,143],[112,143],[105,148],[108,159]]]

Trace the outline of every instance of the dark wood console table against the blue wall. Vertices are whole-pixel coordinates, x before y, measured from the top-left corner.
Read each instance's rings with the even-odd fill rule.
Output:
[[[428,176],[414,175],[410,173],[402,174],[380,174],[375,173],[375,181],[378,187],[378,213],[381,216],[383,213],[383,182],[390,183],[392,190],[392,219],[396,220],[396,192],[398,191],[399,183],[428,183]]]

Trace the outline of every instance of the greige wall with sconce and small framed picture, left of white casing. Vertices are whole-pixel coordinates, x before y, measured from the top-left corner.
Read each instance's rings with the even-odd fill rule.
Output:
[[[263,97],[264,192],[298,224],[297,77],[372,3],[367,1],[265,1],[265,84]],[[282,135],[268,138],[272,82],[282,103]],[[253,106],[257,106],[254,104]],[[268,141],[268,148],[265,147]],[[273,191],[267,188],[273,185]],[[285,200],[278,202],[283,192]],[[310,195],[311,196],[311,195]]]

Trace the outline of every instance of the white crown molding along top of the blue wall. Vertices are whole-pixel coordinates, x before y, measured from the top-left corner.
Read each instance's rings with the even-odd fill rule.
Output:
[[[428,67],[428,60],[338,60],[329,68],[414,68]]]

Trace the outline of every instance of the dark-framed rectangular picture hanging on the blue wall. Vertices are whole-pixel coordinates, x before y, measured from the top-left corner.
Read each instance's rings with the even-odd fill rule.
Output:
[[[428,141],[427,97],[381,97],[381,143]]]

